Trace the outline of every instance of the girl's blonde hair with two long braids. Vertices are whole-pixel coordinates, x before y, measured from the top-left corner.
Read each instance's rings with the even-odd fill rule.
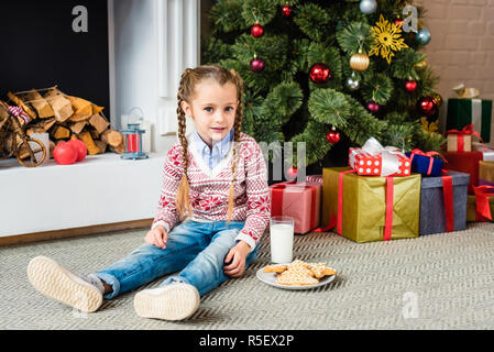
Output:
[[[182,74],[180,85],[178,87],[177,100],[177,119],[178,119],[178,139],[182,145],[182,155],[184,160],[184,175],[182,176],[180,183],[178,185],[177,195],[175,198],[176,208],[180,218],[186,217],[190,213],[190,198],[189,198],[189,183],[187,179],[187,146],[188,141],[185,135],[186,130],[186,121],[185,121],[185,112],[182,109],[182,101],[190,102],[190,99],[194,97],[194,89],[198,82],[204,79],[212,78],[219,85],[224,85],[226,82],[232,82],[237,87],[237,99],[238,99],[238,108],[235,111],[235,120],[233,123],[233,160],[231,164],[231,173],[232,180],[230,184],[230,194],[228,197],[228,222],[230,222],[231,217],[233,215],[233,198],[234,198],[234,182],[237,174],[237,161],[238,161],[238,151],[237,146],[240,141],[240,133],[242,131],[242,116],[243,116],[243,106],[242,106],[242,96],[243,96],[243,82],[240,75],[234,69],[226,69],[221,66],[217,65],[202,65],[196,68],[187,68]]]

